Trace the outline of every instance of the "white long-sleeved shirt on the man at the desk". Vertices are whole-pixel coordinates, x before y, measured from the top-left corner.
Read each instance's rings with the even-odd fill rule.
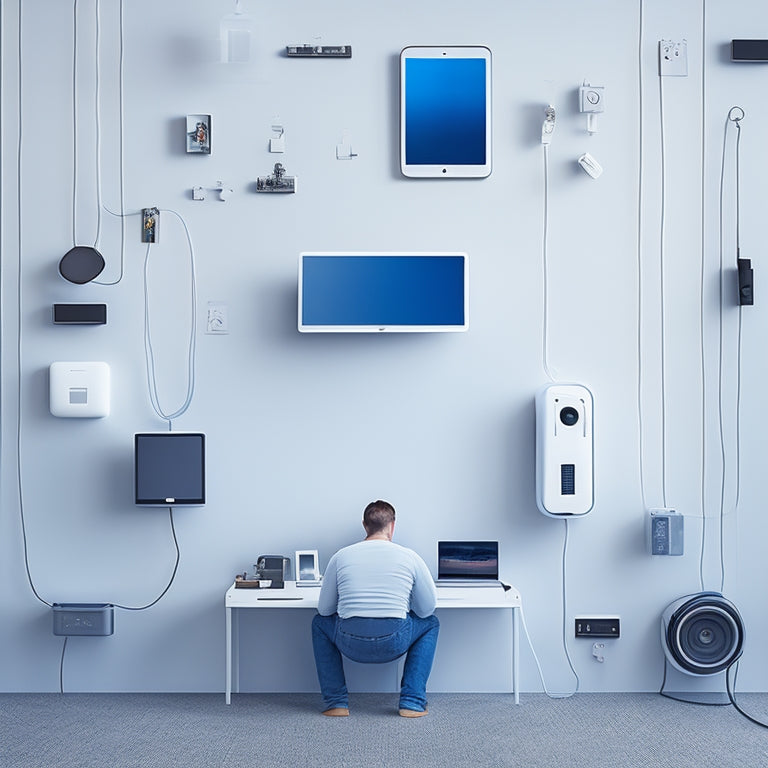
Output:
[[[391,541],[360,541],[329,561],[317,610],[323,616],[404,619],[434,613],[435,582],[424,560]]]

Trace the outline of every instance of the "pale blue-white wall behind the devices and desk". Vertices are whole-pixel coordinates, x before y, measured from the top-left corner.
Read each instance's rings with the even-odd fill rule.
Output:
[[[559,378],[587,385],[595,397],[596,503],[570,524],[565,558],[566,635],[580,689],[658,690],[661,611],[681,595],[720,589],[724,468],[724,590],[748,634],[739,688],[768,689],[768,669],[750,642],[768,624],[760,418],[768,69],[731,63],[727,53],[734,37],[768,37],[763,3],[710,2],[706,18],[698,0],[674,7],[663,0],[245,6],[258,22],[259,55],[248,65],[223,65],[218,24],[229,2],[125,3],[124,205],[129,213],[153,205],[175,210],[192,237],[196,390],[173,426],[207,434],[209,497],[204,508],[174,515],[181,561],[167,595],[146,611],[118,611],[112,637],[70,640],[65,689],[221,690],[223,595],[234,574],[259,553],[300,548],[319,548],[324,566],[335,549],[360,537],[362,509],[377,497],[398,510],[398,540],[432,567],[438,538],[499,539],[502,571],[523,595],[547,687],[573,689],[562,642],[565,524],[539,514],[533,482],[533,396],[547,381],[539,134],[548,103],[557,108],[549,358]],[[103,203],[118,210],[119,6],[101,0],[99,7]],[[94,0],[78,4],[80,240],[93,238],[96,226],[94,9]],[[174,560],[167,511],[132,503],[132,436],[166,428],[147,394],[139,218],[127,219],[119,284],[80,287],[57,274],[72,245],[72,20],[72,3],[25,0],[2,8],[0,689],[7,691],[57,690],[59,682],[62,640],[51,634],[50,609],[27,580],[22,511],[29,572],[44,601],[145,604],[167,584]],[[662,97],[661,38],[685,38],[689,52],[688,77],[665,78]],[[288,43],[318,40],[351,44],[353,58],[281,55]],[[397,56],[412,44],[483,44],[493,51],[488,179],[400,176]],[[585,79],[606,89],[606,112],[593,136],[578,112]],[[740,378],[738,312],[730,300],[720,375],[719,187],[733,105],[746,112],[741,247],[753,259],[757,286],[756,305],[743,312]],[[199,112],[213,116],[210,157],[184,151],[185,115]],[[286,129],[284,157],[267,152],[276,115]],[[356,159],[335,159],[343,130]],[[732,131],[723,217],[728,289],[735,266],[734,137]],[[605,168],[598,180],[576,164],[586,151]],[[299,177],[299,192],[254,194],[256,177],[276,159]],[[234,188],[229,201],[212,194],[205,202],[191,199],[193,186],[219,179]],[[103,218],[103,277],[112,280],[120,229],[109,214]],[[170,411],[186,386],[189,258],[178,221],[162,214],[160,226],[150,253],[150,301],[160,396]],[[465,250],[470,330],[300,336],[296,273],[305,249]],[[226,336],[204,333],[213,300],[228,305]],[[106,302],[109,322],[54,326],[50,308],[59,301]],[[49,414],[47,367],[55,360],[109,363],[108,418]],[[645,507],[664,503],[686,515],[682,558],[645,552]],[[604,664],[592,658],[591,642],[571,637],[573,616],[585,613],[621,616],[622,637],[607,643]],[[243,690],[316,689],[307,618],[286,612],[257,626],[244,617],[243,648],[252,652],[242,662]],[[445,616],[432,689],[503,690],[509,640],[503,616]],[[522,661],[523,689],[540,690],[527,646]],[[353,687],[370,690],[391,687],[391,676],[355,668],[350,678]]]

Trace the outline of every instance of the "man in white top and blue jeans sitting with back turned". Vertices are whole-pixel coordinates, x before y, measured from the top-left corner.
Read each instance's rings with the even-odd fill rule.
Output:
[[[392,542],[395,510],[373,501],[363,513],[364,541],[340,549],[328,563],[312,620],[312,647],[324,715],[349,714],[341,655],[383,663],[407,654],[400,689],[403,717],[427,714],[427,678],[440,624],[437,592],[426,563]]]

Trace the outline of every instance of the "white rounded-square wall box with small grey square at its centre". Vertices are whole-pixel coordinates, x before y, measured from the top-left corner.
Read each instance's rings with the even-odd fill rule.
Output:
[[[110,375],[107,363],[51,363],[49,407],[62,418],[109,416]]]

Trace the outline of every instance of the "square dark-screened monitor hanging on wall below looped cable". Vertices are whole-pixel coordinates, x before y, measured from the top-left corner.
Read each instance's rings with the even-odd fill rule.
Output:
[[[134,437],[136,503],[152,507],[205,504],[205,435],[144,432]]]

